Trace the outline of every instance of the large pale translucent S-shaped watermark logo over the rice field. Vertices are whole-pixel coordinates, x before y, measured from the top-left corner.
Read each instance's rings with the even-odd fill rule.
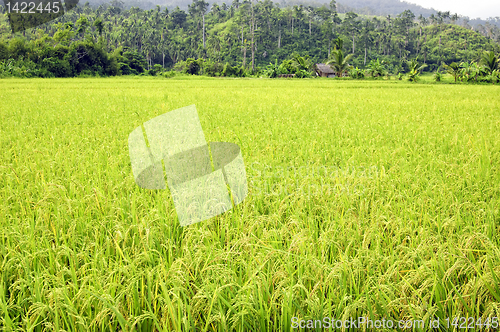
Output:
[[[248,194],[240,147],[207,144],[195,105],[145,122],[130,133],[128,146],[139,187],[166,189],[165,171],[181,226],[222,214]]]

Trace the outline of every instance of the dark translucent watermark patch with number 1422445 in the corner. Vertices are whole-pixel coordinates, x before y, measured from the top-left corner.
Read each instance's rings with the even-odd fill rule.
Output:
[[[12,32],[50,22],[75,8],[79,0],[3,0]]]

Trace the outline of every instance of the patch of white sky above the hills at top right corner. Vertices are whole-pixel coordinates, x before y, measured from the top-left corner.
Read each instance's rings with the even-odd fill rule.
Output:
[[[500,17],[500,0],[406,0],[425,8],[450,11],[469,18]]]

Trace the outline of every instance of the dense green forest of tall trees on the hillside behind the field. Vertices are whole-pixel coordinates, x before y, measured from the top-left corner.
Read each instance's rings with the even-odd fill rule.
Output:
[[[288,8],[269,0],[234,1],[209,8],[193,0],[188,12],[159,6],[126,10],[114,1],[79,6],[24,34],[8,33],[7,22],[7,15],[0,15],[0,75],[28,77],[189,72],[190,64],[212,76],[225,76],[226,66],[226,72],[236,73],[226,76],[245,76],[293,54],[326,62],[337,38],[345,41],[343,51],[352,54],[354,67],[378,59],[400,72],[418,58],[435,71],[442,62],[477,61],[483,51],[498,52],[500,38],[499,28],[491,26],[482,35],[459,26],[450,13],[428,19],[408,10],[396,17],[359,16],[338,13],[335,1]]]

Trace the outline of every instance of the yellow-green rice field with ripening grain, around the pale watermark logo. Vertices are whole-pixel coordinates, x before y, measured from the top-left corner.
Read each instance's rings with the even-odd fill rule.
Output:
[[[249,194],[183,228],[127,140],[191,104]],[[498,326],[499,86],[7,79],[0,118],[2,331]]]

